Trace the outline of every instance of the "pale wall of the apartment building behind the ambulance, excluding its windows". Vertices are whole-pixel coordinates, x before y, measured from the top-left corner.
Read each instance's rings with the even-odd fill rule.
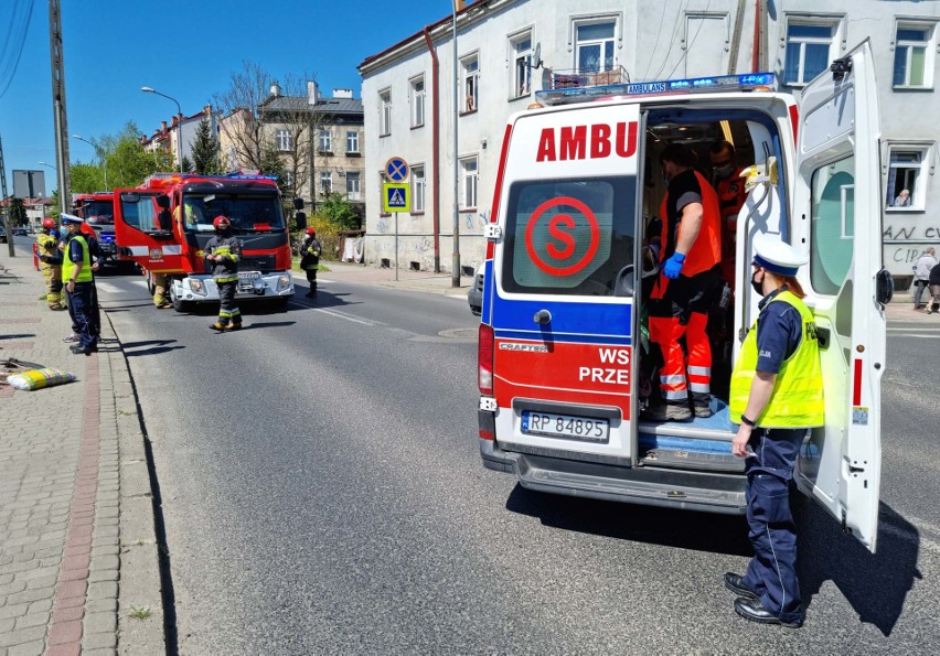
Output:
[[[922,152],[918,179],[918,207],[885,209],[885,266],[900,279],[910,275],[910,265],[928,245],[940,241],[940,221],[932,207],[940,206],[940,183],[934,175],[940,123],[925,117],[940,115],[936,93],[938,29],[928,49],[930,83],[922,89],[901,89],[891,84],[898,21],[920,21],[936,25],[940,2],[878,0],[767,0],[767,46],[759,56],[780,79],[786,65],[788,25],[799,21],[832,21],[835,37],[830,58],[843,56],[865,39],[872,41],[882,110],[884,194],[888,196],[889,149]],[[577,21],[617,20],[615,57],[632,82],[663,79],[752,69],[755,3],[736,0],[478,0],[458,20],[458,56],[478,53],[480,93],[477,111],[457,119],[459,155],[478,155],[478,206],[459,213],[460,260],[472,269],[484,256],[482,227],[489,219],[500,149],[506,119],[526,108],[534,92],[549,84],[549,69],[576,68],[574,24]],[[442,19],[445,17],[441,17]],[[432,36],[440,64],[440,269],[451,270],[453,225],[453,103],[450,20],[441,21]],[[510,40],[531,31],[533,46],[541,45],[544,67],[533,71],[532,94],[511,98],[513,74]],[[400,35],[405,36],[405,35]],[[735,56],[736,53],[736,56]],[[432,171],[432,79],[431,57],[421,34],[366,61],[362,98],[365,106],[366,155],[366,261],[395,261],[395,217],[381,216],[380,171],[392,155],[409,163],[424,163],[427,192],[424,214],[398,215],[398,266],[434,268],[434,171]],[[459,68],[459,65],[458,65]],[[409,79],[424,73],[426,122],[409,125]],[[459,79],[459,78],[458,78]],[[391,133],[380,136],[380,92],[393,97]],[[781,85],[799,97],[800,85]],[[893,200],[893,198],[890,198]],[[886,205],[890,202],[886,198]],[[417,265],[413,265],[417,262]]]

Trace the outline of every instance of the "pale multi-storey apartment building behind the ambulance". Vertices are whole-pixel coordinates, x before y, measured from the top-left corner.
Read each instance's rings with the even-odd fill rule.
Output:
[[[918,118],[940,110],[940,3],[477,0],[456,18],[456,50],[446,15],[360,64],[370,264],[394,261],[397,243],[400,267],[450,270],[456,223],[461,268],[472,271],[484,255],[506,118],[536,90],[772,71],[799,97],[866,39],[882,115],[884,260],[900,288],[920,252],[940,241],[940,126]],[[380,198],[392,157],[412,171],[397,239]]]

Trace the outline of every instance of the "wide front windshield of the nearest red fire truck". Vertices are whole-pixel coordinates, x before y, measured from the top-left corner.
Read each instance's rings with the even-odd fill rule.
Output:
[[[185,194],[183,212],[188,232],[213,232],[212,222],[221,214],[228,217],[236,234],[285,229],[284,209],[275,194]]]

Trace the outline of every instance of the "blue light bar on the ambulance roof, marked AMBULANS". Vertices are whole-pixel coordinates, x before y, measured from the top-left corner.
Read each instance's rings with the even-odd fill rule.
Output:
[[[607,100],[617,97],[685,95],[715,92],[776,90],[773,73],[745,73],[688,79],[664,79],[632,84],[609,84],[595,87],[570,87],[535,92],[542,105],[572,105],[590,100]]]

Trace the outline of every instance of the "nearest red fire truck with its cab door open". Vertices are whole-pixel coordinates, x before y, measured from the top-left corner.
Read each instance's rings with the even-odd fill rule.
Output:
[[[148,283],[157,273],[167,275],[178,312],[195,303],[218,302],[203,251],[215,234],[212,222],[222,214],[244,246],[237,298],[286,305],[293,295],[290,235],[274,178],[154,173],[139,187],[114,193],[121,257],[140,265]],[[299,209],[303,203],[298,200],[295,205]],[[306,225],[300,212],[297,221]]]

